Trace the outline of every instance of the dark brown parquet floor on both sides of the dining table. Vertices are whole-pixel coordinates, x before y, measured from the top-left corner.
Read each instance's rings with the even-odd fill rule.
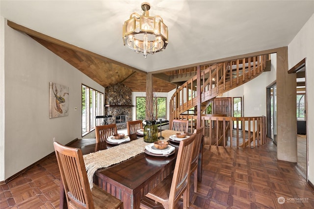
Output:
[[[0,186],[0,208],[58,208],[59,187],[51,156]],[[270,140],[253,149],[205,146],[202,182],[190,202],[196,209],[313,209],[314,190],[296,163],[276,160]]]

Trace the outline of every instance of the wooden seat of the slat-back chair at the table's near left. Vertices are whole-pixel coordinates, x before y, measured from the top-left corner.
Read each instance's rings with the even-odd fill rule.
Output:
[[[119,199],[96,185],[92,188],[92,196],[95,209],[117,209],[122,206],[122,202]]]

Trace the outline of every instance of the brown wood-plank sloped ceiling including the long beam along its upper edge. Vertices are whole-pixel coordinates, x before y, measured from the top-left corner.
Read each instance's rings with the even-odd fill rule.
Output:
[[[146,92],[147,72],[145,71],[134,69],[131,66],[54,39],[22,25],[10,21],[8,21],[8,25],[13,29],[26,33],[103,87],[123,83],[132,92]],[[176,85],[154,77],[153,88],[155,92],[169,92],[175,89]]]

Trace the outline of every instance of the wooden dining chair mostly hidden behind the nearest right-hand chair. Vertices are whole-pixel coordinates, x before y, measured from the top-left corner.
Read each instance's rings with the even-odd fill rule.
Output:
[[[192,160],[191,160],[191,170],[190,175],[194,173],[194,192],[197,192],[197,167],[198,167],[198,158],[200,154],[200,147],[203,137],[203,129],[204,127],[200,127],[194,130],[194,134],[196,134],[196,139],[194,142],[194,150],[192,153]]]

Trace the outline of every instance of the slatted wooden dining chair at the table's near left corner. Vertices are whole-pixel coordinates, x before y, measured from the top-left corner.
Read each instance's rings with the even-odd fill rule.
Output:
[[[53,142],[68,208],[123,209],[123,203],[100,187],[90,189],[80,149]]]

